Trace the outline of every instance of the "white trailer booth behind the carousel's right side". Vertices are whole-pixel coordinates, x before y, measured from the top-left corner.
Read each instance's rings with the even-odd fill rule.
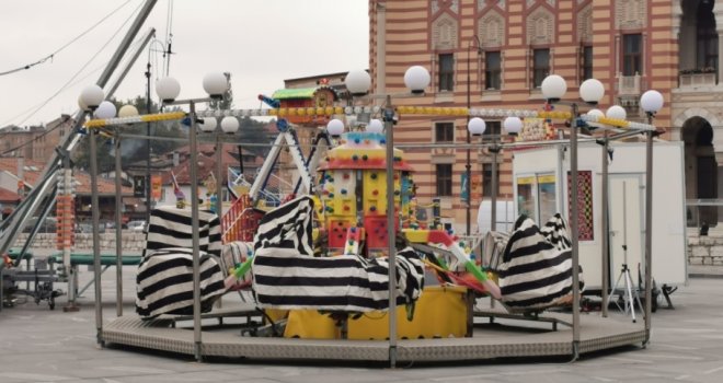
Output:
[[[567,144],[515,149],[513,185],[515,213],[538,224],[555,212],[570,221],[570,152]],[[645,143],[610,142],[608,209],[610,249],[608,287],[615,287],[627,264],[634,283],[644,274]],[[578,254],[586,289],[602,287],[602,150],[595,142],[578,144]],[[686,285],[686,206],[682,142],[656,140],[653,146],[653,279]]]

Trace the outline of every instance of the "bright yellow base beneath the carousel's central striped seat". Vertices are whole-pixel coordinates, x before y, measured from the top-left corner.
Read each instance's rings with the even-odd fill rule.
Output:
[[[462,287],[427,287],[416,302],[414,317],[406,320],[404,306],[397,307],[397,335],[400,339],[464,337],[471,334],[471,300]],[[364,313],[353,320],[349,315],[347,339],[389,338],[386,312]],[[340,339],[342,327],[329,314],[315,310],[289,312],[284,332],[286,338]]]

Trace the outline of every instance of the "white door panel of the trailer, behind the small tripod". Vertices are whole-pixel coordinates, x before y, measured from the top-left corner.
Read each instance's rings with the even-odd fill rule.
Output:
[[[643,265],[642,174],[610,175],[610,276],[615,283],[628,265],[633,285]],[[624,280],[624,279],[623,279]],[[621,280],[621,283],[624,283]],[[610,286],[613,287],[612,285]],[[624,287],[620,286],[620,287]]]

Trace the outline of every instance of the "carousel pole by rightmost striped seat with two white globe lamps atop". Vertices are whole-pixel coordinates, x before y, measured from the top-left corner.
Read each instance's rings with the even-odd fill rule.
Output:
[[[542,95],[548,103],[561,103],[560,100],[567,91],[565,79],[558,74],[550,74],[541,84]],[[585,80],[579,86],[581,98],[590,105],[597,104],[605,95],[602,83],[595,79]],[[573,358],[579,356],[579,246],[578,246],[578,210],[577,206],[577,128],[584,124],[579,118],[577,103],[563,103],[571,107],[570,121],[570,241],[572,243],[572,293],[573,293]]]

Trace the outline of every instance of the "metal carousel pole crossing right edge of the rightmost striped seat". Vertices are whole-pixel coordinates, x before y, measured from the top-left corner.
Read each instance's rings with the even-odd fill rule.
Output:
[[[573,275],[573,359],[579,357],[579,249],[578,249],[578,206],[577,206],[577,104],[572,104],[570,125],[570,214]]]

